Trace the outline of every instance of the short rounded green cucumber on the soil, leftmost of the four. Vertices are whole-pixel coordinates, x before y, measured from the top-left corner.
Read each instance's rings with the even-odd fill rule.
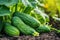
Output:
[[[9,36],[19,36],[20,35],[20,31],[16,27],[10,25],[9,23],[6,23],[4,31]]]

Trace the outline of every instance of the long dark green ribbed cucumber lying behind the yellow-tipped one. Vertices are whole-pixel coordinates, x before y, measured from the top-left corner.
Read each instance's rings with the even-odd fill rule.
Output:
[[[37,28],[40,25],[40,22],[35,19],[34,17],[25,14],[25,13],[18,13],[16,12],[14,14],[14,16],[18,16],[19,18],[21,18],[23,20],[23,22],[33,28]]]

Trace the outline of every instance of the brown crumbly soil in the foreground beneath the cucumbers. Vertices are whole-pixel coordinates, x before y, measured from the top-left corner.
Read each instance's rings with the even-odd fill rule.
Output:
[[[42,33],[39,37],[20,36],[20,37],[2,37],[0,40],[60,40],[54,31],[49,33]]]

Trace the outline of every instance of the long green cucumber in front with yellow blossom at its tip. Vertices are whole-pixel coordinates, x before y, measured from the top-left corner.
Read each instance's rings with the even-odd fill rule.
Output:
[[[33,28],[26,25],[19,17],[14,16],[12,18],[12,22],[13,22],[13,25],[15,25],[25,35],[33,35],[33,36],[39,35],[38,32],[36,33],[36,31]]]

